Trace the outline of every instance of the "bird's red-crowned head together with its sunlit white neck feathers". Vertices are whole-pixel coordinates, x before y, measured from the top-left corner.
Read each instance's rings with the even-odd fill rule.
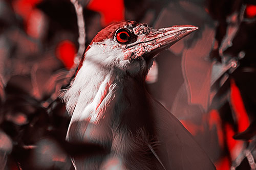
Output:
[[[101,30],[88,46],[70,88],[63,93],[72,118],[87,115],[84,110],[89,104],[98,108],[110,85],[127,80],[123,77],[144,83],[155,56],[197,29],[185,25],[153,29],[134,21],[120,21]],[[110,95],[108,99],[112,98]]]

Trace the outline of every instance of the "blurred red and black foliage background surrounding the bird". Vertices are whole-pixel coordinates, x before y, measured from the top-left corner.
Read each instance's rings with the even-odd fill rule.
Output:
[[[199,27],[158,56],[148,91],[217,169],[256,169],[254,0],[0,0],[0,169],[74,169],[70,156],[104,152],[65,141],[58,96],[84,44],[124,19]]]

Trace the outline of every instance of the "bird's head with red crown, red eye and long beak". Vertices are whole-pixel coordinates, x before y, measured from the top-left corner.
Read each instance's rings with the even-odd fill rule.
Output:
[[[120,21],[101,30],[85,56],[104,68],[146,75],[160,51],[197,29],[187,25],[153,29],[134,21]]]

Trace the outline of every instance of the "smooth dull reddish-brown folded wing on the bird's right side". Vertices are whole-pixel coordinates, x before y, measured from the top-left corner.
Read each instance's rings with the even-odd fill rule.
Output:
[[[166,169],[216,169],[180,121],[159,102],[151,98],[156,133],[160,145],[158,156]]]

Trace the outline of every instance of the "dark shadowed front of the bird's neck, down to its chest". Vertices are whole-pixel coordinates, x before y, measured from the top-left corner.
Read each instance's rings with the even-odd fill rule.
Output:
[[[157,161],[149,145],[156,144],[151,105],[145,82],[130,76],[118,79],[112,115],[112,151],[129,169],[151,169]],[[132,163],[136,162],[136,163]],[[132,167],[136,164],[136,167]]]

